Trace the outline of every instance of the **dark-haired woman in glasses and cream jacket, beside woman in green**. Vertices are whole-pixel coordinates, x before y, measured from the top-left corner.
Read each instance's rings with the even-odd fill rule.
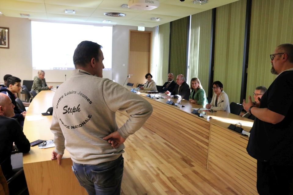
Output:
[[[222,110],[230,113],[230,103],[228,95],[223,91],[223,84],[220,81],[213,83],[214,95],[211,104],[205,107],[212,110]]]

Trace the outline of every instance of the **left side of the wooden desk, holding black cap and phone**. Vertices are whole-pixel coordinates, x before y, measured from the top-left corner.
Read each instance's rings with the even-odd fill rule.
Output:
[[[26,116],[41,115],[52,107],[55,92],[52,90],[41,91],[33,99]],[[43,120],[24,120],[24,134],[32,142],[35,140],[51,140],[53,133],[50,130],[52,116],[42,116]],[[52,148],[39,149],[31,147],[31,151],[24,154],[24,174],[29,193],[39,194],[87,194],[81,187],[72,172],[72,161],[65,150],[62,164],[51,160]]]

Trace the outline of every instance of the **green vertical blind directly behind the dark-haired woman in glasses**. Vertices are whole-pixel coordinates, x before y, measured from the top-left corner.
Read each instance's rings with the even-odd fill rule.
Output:
[[[229,101],[240,99],[246,0],[216,10],[214,81],[223,83]]]

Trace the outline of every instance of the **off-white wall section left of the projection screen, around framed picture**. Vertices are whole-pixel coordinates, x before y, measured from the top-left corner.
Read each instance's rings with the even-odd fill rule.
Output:
[[[9,28],[9,49],[0,48],[0,83],[11,74],[21,80],[32,78],[31,20],[0,16],[0,27]]]

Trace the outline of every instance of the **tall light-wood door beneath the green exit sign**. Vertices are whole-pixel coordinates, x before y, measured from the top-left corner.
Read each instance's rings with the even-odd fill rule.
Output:
[[[151,63],[151,31],[129,31],[129,58],[128,78],[129,83],[145,83],[145,75],[150,72]]]

